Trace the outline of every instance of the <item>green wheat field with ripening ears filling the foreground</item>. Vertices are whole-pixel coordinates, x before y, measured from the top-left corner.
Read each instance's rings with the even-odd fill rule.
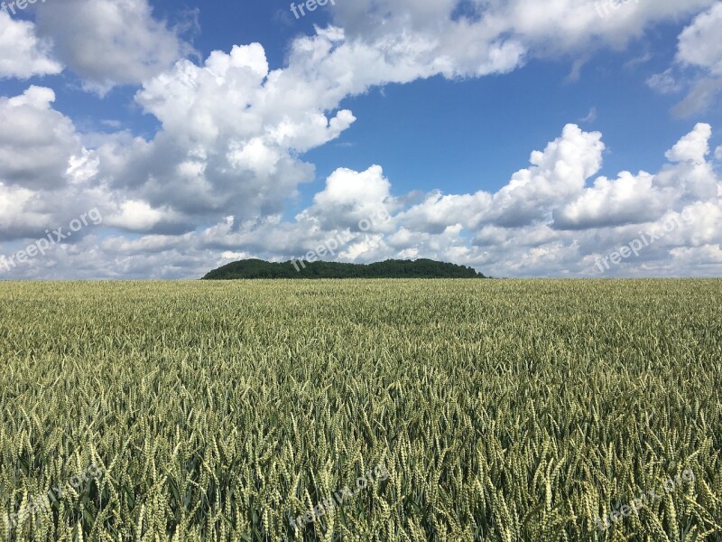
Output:
[[[0,534],[722,540],[722,281],[0,283]]]

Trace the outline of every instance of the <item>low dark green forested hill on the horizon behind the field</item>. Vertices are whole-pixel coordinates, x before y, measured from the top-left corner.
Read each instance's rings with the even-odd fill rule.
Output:
[[[271,263],[247,259],[214,269],[203,280],[242,278],[486,278],[467,266],[430,259],[386,260],[375,264],[342,264],[292,260]]]

